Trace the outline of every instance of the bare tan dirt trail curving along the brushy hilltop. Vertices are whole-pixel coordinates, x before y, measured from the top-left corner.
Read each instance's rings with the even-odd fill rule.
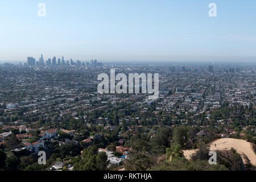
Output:
[[[244,155],[246,155],[250,160],[250,163],[256,166],[256,155],[253,151],[252,143],[246,142],[246,140],[233,138],[221,138],[210,143],[210,150],[230,150],[231,148],[236,149],[237,152],[241,154],[244,163],[246,163],[244,157]],[[184,150],[185,158],[190,159],[195,151],[196,150]]]

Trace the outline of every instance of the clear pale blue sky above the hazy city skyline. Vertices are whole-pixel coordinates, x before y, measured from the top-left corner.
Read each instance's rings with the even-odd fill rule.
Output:
[[[1,1],[0,60],[256,61],[255,22],[255,0]]]

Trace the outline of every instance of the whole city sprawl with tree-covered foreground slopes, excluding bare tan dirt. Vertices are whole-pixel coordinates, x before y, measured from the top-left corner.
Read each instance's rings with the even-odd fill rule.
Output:
[[[158,99],[98,93],[97,76],[110,69],[159,73]],[[217,150],[218,164],[208,163],[208,144],[217,139],[250,142],[255,155],[255,71],[255,64],[113,64],[43,55],[1,64],[0,169],[255,170],[255,160],[236,148]],[[190,150],[200,152],[188,159]],[[38,164],[39,151],[47,154],[45,165]]]

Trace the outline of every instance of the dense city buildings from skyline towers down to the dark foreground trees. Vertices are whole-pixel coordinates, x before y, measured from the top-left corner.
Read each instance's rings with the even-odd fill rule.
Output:
[[[58,150],[72,147],[73,153],[68,155],[72,163],[65,161],[67,156],[58,155],[58,160],[69,170],[77,170],[82,164],[75,162],[76,156],[96,147],[99,154],[107,154],[109,167],[129,169],[133,168],[130,156],[134,156],[130,149],[138,139],[154,143],[159,132],[175,133],[183,130],[180,127],[190,136],[185,145],[180,143],[185,157],[200,140],[256,142],[255,64],[233,65],[236,69],[229,64],[216,65],[213,72],[207,64],[101,65],[93,60],[91,65],[71,59],[72,64],[60,65],[53,64],[55,59],[48,59],[46,65],[34,65],[32,57],[28,64],[0,65],[0,144],[5,150],[27,150],[31,155],[49,150],[56,155],[53,144]],[[113,68],[125,75],[159,73],[158,99],[148,100],[148,93],[98,93],[97,76],[109,75]],[[19,145],[9,146],[11,136]],[[175,137],[162,139],[176,141]],[[162,147],[154,152],[152,146],[150,155],[163,155],[170,146],[167,142]],[[254,164],[254,157],[247,157]]]

